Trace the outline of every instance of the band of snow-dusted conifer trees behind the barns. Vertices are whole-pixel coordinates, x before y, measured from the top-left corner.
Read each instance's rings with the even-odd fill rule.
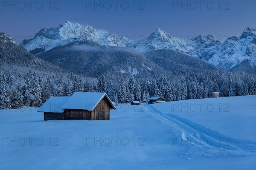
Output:
[[[256,94],[256,77],[238,72],[186,74],[180,77],[156,79],[100,76],[98,81],[75,74],[42,77],[29,71],[26,75],[0,73],[0,109],[40,107],[50,96],[71,96],[74,92],[105,92],[116,103],[148,101],[150,96],[162,96],[167,101],[209,98],[212,92],[220,96]]]

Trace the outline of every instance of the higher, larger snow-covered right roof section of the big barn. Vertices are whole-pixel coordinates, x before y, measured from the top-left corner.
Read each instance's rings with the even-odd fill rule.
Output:
[[[87,111],[93,111],[93,109],[98,105],[98,103],[107,97],[109,103],[112,105],[113,109],[116,109],[111,100],[106,93],[79,93],[76,92],[64,103],[62,109],[81,109]]]

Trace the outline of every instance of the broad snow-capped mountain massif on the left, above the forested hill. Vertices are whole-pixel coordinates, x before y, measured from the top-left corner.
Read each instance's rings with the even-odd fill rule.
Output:
[[[28,51],[37,49],[40,52],[44,52],[73,41],[81,40],[97,42],[106,47],[129,47],[133,45],[131,41],[125,41],[124,44],[123,40],[119,40],[117,35],[110,34],[103,29],[95,29],[88,25],[83,26],[70,21],[65,21],[56,27],[42,28],[33,39],[24,40],[20,45]]]

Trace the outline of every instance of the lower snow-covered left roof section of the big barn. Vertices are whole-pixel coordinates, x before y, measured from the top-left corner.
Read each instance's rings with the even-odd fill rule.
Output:
[[[69,99],[70,97],[50,97],[41,108],[38,108],[38,112],[52,112],[52,113],[63,113],[64,109],[62,105]]]

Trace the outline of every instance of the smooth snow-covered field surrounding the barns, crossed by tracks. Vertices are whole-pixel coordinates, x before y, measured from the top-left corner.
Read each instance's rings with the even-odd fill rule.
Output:
[[[0,111],[0,169],[256,169],[256,96],[118,105],[105,121]]]

